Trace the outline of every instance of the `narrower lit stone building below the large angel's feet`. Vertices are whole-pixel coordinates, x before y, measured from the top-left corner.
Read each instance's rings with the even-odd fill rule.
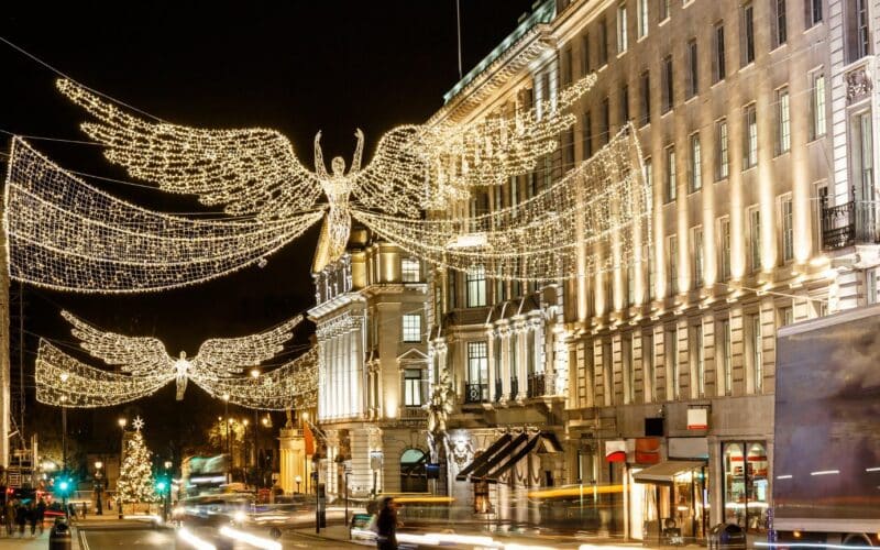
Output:
[[[319,245],[320,249],[320,245]],[[427,492],[427,284],[421,262],[355,228],[314,274],[321,353],[318,471],[331,498]],[[322,454],[322,455],[321,455]]]

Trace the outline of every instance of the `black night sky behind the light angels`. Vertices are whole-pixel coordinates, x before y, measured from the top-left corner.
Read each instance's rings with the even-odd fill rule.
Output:
[[[531,3],[461,0],[464,73],[513,31]],[[341,155],[350,164],[355,128],[366,134],[369,161],[385,131],[427,120],[459,79],[455,34],[454,0],[33,1],[0,9],[0,36],[86,86],[169,122],[279,130],[308,167],[318,130],[324,158]],[[87,139],[78,128],[87,117],[55,90],[57,75],[4,44],[0,70],[0,130]],[[7,152],[8,135],[0,135],[0,142]],[[131,180],[103,160],[100,147],[31,143],[63,167]],[[188,197],[91,183],[147,208],[206,211]],[[120,297],[25,287],[25,421],[45,427],[61,416],[33,398],[37,336],[66,350],[74,343],[61,308],[105,330],[156,336],[173,355],[180,350],[193,355],[208,338],[260,331],[315,305],[309,271],[318,228],[270,257],[262,270],[174,292]],[[298,342],[282,360],[297,354],[312,330],[301,326]],[[114,437],[108,442],[109,435],[118,435],[117,417],[141,414],[151,447],[179,459],[182,442],[201,439],[204,426],[222,414],[222,404],[191,384],[185,400],[176,403],[173,386],[125,410],[70,411],[69,431],[87,450],[110,451],[118,446]]]

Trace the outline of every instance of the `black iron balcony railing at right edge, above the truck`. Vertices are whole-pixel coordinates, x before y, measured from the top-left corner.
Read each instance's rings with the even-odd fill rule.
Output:
[[[878,209],[873,201],[850,200],[822,207],[822,246],[845,249],[854,244],[880,243]]]

